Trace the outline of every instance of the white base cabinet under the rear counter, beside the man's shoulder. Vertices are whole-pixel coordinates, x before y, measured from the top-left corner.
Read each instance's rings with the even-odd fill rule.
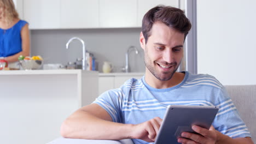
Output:
[[[119,88],[131,78],[141,79],[143,75],[144,73],[100,73],[98,77],[98,95],[109,89]]]

